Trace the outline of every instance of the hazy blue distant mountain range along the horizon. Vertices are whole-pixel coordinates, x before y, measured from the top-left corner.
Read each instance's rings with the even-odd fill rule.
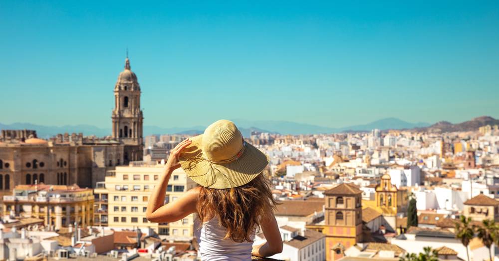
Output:
[[[411,123],[397,118],[386,118],[373,121],[363,125],[352,125],[341,128],[331,128],[313,124],[297,123],[291,121],[249,121],[243,119],[233,119],[245,137],[250,136],[251,131],[280,133],[280,134],[319,134],[319,133],[339,133],[352,131],[370,131],[372,129],[413,129],[416,131],[428,132],[448,132],[448,131],[470,131],[476,130],[485,125],[499,124],[498,119],[490,116],[482,116],[470,121],[452,124],[447,121],[437,122],[433,125],[426,122]],[[257,126],[257,127],[255,127]],[[144,126],[144,135],[152,134],[200,134],[206,126],[194,127],[171,127],[163,128],[158,126]],[[111,134],[111,128],[99,128],[92,125],[64,125],[64,126],[44,126],[31,123],[0,123],[0,129],[30,129],[36,130],[38,137],[49,138],[58,133],[79,133],[84,135],[95,135],[103,137]]]

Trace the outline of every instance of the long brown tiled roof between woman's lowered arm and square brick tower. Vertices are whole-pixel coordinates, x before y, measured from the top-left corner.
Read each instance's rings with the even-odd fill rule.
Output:
[[[314,212],[322,212],[324,201],[285,200],[280,201],[274,212],[275,216],[307,217]]]

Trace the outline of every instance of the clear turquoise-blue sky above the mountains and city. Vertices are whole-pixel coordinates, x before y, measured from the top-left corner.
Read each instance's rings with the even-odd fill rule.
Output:
[[[129,48],[145,124],[499,118],[498,1],[5,1],[0,122],[111,126]]]

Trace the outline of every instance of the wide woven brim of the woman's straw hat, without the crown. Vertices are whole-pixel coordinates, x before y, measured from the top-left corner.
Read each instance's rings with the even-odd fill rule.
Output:
[[[201,149],[203,134],[191,138],[192,143],[180,154],[180,165],[194,182],[207,188],[228,189],[253,180],[268,165],[269,158],[247,143],[237,160],[230,163],[210,162]]]

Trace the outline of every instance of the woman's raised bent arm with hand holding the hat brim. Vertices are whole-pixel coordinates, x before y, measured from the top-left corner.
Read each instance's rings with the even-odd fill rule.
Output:
[[[196,211],[198,190],[190,190],[175,202],[163,205],[170,176],[175,169],[180,167],[180,152],[190,144],[191,140],[184,140],[171,151],[159,184],[154,188],[147,204],[147,220],[157,223],[174,222]]]

